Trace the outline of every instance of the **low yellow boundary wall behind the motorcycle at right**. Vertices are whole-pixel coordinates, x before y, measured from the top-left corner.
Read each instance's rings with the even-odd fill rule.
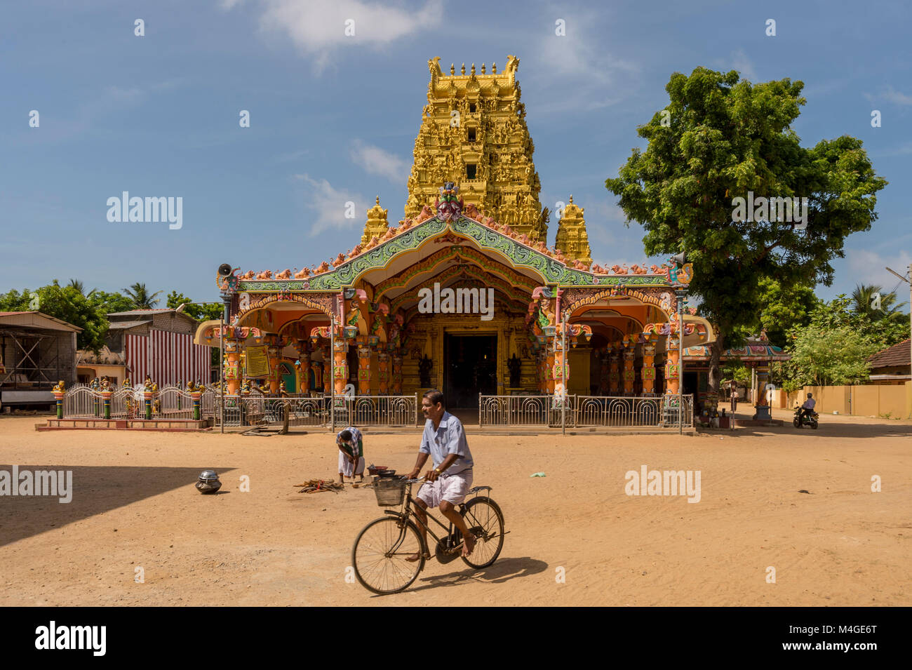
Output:
[[[912,382],[905,384],[865,384],[844,387],[803,387],[801,391],[772,391],[771,406],[792,409],[801,405],[807,394],[814,394],[815,409],[821,414],[851,414],[858,417],[912,418]]]

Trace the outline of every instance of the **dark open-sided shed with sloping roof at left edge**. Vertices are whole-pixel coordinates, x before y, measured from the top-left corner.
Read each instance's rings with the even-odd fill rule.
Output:
[[[41,312],[0,312],[0,405],[48,405],[76,382],[78,325]]]

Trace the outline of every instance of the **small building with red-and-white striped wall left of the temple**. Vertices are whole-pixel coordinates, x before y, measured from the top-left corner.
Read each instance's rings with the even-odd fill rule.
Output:
[[[135,386],[149,375],[159,387],[212,380],[212,347],[193,344],[199,323],[175,309],[135,309],[108,314],[105,347],[79,352],[80,381],[125,378]]]

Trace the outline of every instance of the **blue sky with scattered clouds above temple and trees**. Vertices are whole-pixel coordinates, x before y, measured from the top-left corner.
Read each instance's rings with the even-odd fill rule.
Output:
[[[276,271],[347,251],[375,196],[390,222],[402,218],[434,56],[445,71],[520,58],[541,201],[554,209],[573,193],[597,263],[644,260],[642,229],[625,227],[604,183],[667,103],[670,74],[698,66],[801,79],[803,144],[863,139],[890,182],[878,221],[849,238],[818,294],[892,289],[884,266],[912,262],[902,2],[31,0],[0,17],[0,293],[72,277],[214,300],[219,263]],[[181,229],[109,222],[122,191],[182,197]],[[549,245],[555,232],[553,221]]]

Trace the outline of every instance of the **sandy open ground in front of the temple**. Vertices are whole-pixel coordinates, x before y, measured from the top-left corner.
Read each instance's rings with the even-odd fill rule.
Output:
[[[336,476],[327,434],[39,433],[38,417],[2,417],[0,469],[71,469],[74,494],[0,497],[0,605],[910,605],[912,424],[822,418],[692,438],[468,428],[475,484],[510,531],[500,559],[431,561],[380,597],[346,581],[381,516],[373,492],[293,486]],[[417,440],[368,432],[368,462],[407,471]],[[643,465],[700,470],[700,502],[627,496]],[[220,494],[194,489],[204,468]]]

